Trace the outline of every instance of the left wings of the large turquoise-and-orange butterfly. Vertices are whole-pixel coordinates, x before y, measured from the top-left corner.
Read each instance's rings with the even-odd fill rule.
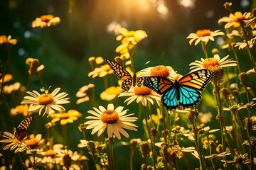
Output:
[[[146,79],[144,79],[144,86],[149,87],[158,94],[162,94],[161,103],[163,103],[167,109],[178,108],[177,92],[171,80],[164,77],[146,77]]]

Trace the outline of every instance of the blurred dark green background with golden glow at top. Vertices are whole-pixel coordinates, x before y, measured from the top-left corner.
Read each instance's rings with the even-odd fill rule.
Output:
[[[254,0],[233,0],[233,12],[251,11],[255,7]],[[161,6],[161,3],[165,6]],[[88,58],[101,56],[113,60],[118,54],[115,48],[119,42],[115,40],[116,35],[108,31],[113,22],[122,23],[128,30],[145,30],[148,38],[137,45],[134,52],[135,69],[139,71],[145,67],[159,64],[171,65],[174,70],[181,74],[189,72],[188,64],[203,57],[201,45],[190,46],[186,37],[196,30],[210,29],[222,30],[223,26],[218,24],[218,19],[228,16],[223,0],[2,0],[0,4],[0,35],[11,35],[18,43],[11,47],[11,61],[6,73],[11,73],[14,79],[11,83],[20,81],[26,86],[28,81],[28,67],[25,61],[28,57],[37,58],[40,64],[45,65],[43,70],[43,86],[53,86],[50,92],[56,87],[60,91],[69,94],[70,103],[64,107],[76,109],[83,114],[83,117],[73,124],[68,124],[68,134],[72,149],[76,149],[82,133],[78,131],[78,125],[85,122],[87,111],[90,110],[89,103],[76,105],[75,93],[85,84],[96,84],[94,106],[107,106],[107,101],[100,100],[100,93],[105,90],[102,78],[92,79],[87,74],[92,71]],[[161,6],[161,8],[159,8]],[[167,12],[166,12],[167,10]],[[53,14],[60,17],[57,26],[48,28],[32,28],[31,22],[45,14]],[[218,47],[216,42],[208,43],[208,54],[213,47]],[[220,57],[228,55],[228,51],[220,50]],[[0,46],[1,64],[6,61],[6,47]],[[231,55],[231,57],[233,57]],[[149,64],[142,65],[151,61]],[[246,64],[243,64],[244,66]],[[250,68],[242,68],[247,71]],[[33,77],[33,89],[28,91],[39,91],[41,84],[38,77]],[[21,103],[25,94],[8,96],[11,108]],[[122,103],[124,98],[114,99],[115,103]],[[126,106],[126,104],[122,104]],[[135,103],[134,103],[135,106]],[[1,107],[1,119],[5,120],[2,112],[8,112]],[[136,113],[138,107],[127,107],[131,113]],[[35,115],[35,125],[47,123],[46,118]],[[23,118],[14,118],[17,125]],[[4,121],[1,121],[4,122]],[[58,124],[58,123],[56,123]],[[137,123],[141,125],[142,123]],[[8,126],[9,124],[7,124]],[[61,142],[61,127],[55,132],[57,142]],[[11,127],[8,127],[11,130]],[[45,128],[33,128],[34,133],[46,135]],[[6,130],[3,123],[0,131]],[[142,128],[139,133],[129,133],[131,137],[140,137],[143,134]],[[75,136],[75,137],[74,137]],[[87,132],[90,136],[90,132]],[[96,135],[94,135],[95,137]],[[90,138],[90,137],[88,137]],[[59,139],[59,141],[58,141]],[[129,141],[130,139],[122,140]],[[75,141],[75,142],[73,142]],[[104,141],[104,137],[102,137]],[[122,152],[122,147],[115,150]],[[117,155],[117,154],[116,154]],[[119,163],[128,164],[129,154],[119,154]],[[141,159],[141,156],[139,156]],[[139,164],[137,165],[139,166]],[[127,166],[126,166],[127,167]],[[192,168],[193,169],[193,168]]]

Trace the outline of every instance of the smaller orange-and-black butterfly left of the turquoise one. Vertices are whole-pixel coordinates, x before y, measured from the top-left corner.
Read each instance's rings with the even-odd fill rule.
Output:
[[[124,91],[129,91],[129,89],[132,86],[136,86],[136,84],[137,86],[143,85],[143,81],[146,79],[146,77],[136,77],[136,74],[134,74],[132,77],[131,74],[129,74],[129,72],[119,63],[113,62],[111,60],[105,60],[105,62],[107,62],[118,79],[124,79],[121,85],[121,88],[124,89]]]

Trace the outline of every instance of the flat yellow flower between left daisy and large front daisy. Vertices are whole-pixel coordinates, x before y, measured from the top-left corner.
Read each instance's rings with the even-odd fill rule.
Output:
[[[50,117],[53,118],[53,120],[51,120],[52,123],[60,120],[60,125],[65,125],[78,120],[78,118],[82,117],[82,113],[71,109],[68,111],[68,113],[53,113],[50,115]]]

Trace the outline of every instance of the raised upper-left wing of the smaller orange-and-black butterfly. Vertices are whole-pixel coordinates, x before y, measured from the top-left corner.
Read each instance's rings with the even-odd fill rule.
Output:
[[[111,61],[111,60],[105,60],[107,64],[110,66],[110,68],[113,70],[114,74],[117,76],[118,79],[132,79],[131,74],[127,72],[124,67],[122,67],[119,63]]]

